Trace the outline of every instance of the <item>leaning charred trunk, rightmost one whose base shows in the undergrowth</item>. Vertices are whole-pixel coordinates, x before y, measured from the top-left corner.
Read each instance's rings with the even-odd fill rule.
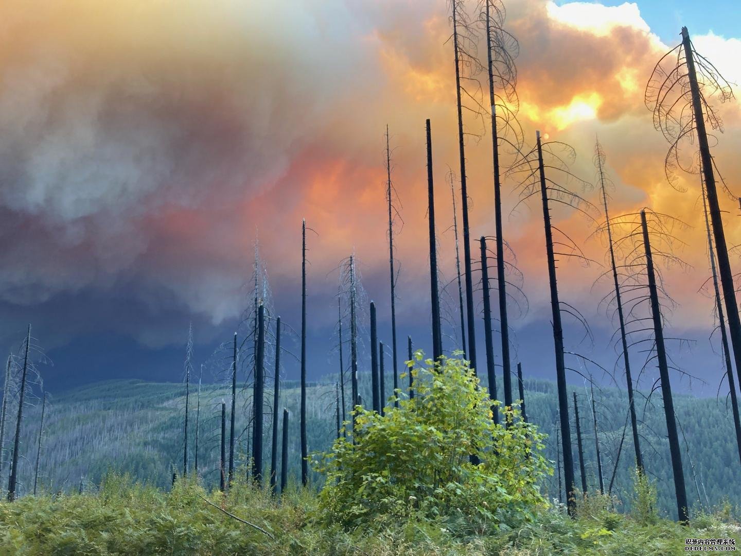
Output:
[[[674,492],[677,494],[677,514],[679,521],[688,523],[689,513],[687,505],[687,492],[685,492],[685,475],[682,469],[682,453],[679,451],[679,436],[677,435],[677,420],[674,419],[674,400],[671,397],[671,384],[669,383],[669,365],[664,346],[664,330],[661,320],[661,308],[659,306],[659,294],[657,292],[656,277],[654,275],[654,259],[651,256],[651,242],[648,237],[648,225],[646,224],[645,211],[641,211],[641,227],[643,230],[643,248],[646,257],[646,276],[648,277],[648,295],[651,301],[651,317],[654,321],[654,340],[656,342],[656,355],[659,363],[659,375],[661,381],[661,394],[664,399],[664,413],[666,417],[666,430],[669,437],[669,451],[671,453],[671,469],[674,473]]]

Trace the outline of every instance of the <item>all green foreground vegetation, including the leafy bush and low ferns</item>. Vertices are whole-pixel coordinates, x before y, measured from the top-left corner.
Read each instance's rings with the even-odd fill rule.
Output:
[[[741,541],[728,504],[689,526],[661,517],[645,474],[634,477],[630,512],[617,497],[577,492],[570,517],[544,495],[553,469],[536,426],[516,409],[494,423],[498,403],[462,360],[411,372],[413,399],[390,400],[384,414],[359,408],[353,433],[313,455],[321,491],[293,481],[273,494],[249,466],[227,492],[195,474],[165,490],[109,471],[85,490],[0,503],[0,553],[643,555],[684,552],[687,537]]]

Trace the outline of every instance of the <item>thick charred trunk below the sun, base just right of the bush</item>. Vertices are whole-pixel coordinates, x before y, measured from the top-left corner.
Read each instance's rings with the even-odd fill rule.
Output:
[[[561,325],[561,307],[556,283],[556,257],[554,255],[553,231],[551,229],[551,209],[548,208],[548,190],[545,185],[543,168],[543,151],[540,144],[540,132],[537,133],[538,166],[540,173],[540,194],[543,205],[543,223],[545,225],[545,252],[548,256],[548,281],[551,285],[551,313],[553,314],[554,345],[556,353],[556,383],[558,385],[558,405],[561,420],[561,449],[563,451],[563,476],[566,490],[568,513],[572,517],[574,504],[574,460],[571,454],[571,426],[568,422],[568,392],[566,391],[566,365],[563,353],[563,327]]]

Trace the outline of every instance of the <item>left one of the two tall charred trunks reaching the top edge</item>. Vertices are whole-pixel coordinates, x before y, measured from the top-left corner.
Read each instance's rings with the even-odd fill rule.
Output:
[[[465,269],[465,304],[466,318],[468,322],[468,351],[467,358],[471,362],[471,368],[476,372],[476,328],[473,322],[473,279],[471,279],[471,238],[468,226],[468,188],[466,187],[465,174],[465,146],[463,133],[463,113],[461,105],[461,79],[460,79],[460,52],[458,46],[458,18],[456,2],[453,1],[453,49],[455,50],[456,64],[456,107],[458,109],[458,149],[460,154],[461,169],[461,210],[463,214],[463,267]]]

